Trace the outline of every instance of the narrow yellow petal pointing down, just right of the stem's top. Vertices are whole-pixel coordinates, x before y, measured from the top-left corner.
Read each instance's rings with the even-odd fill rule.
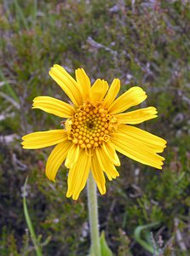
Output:
[[[96,154],[92,156],[92,174],[95,178],[95,183],[97,184],[97,187],[101,193],[101,195],[104,195],[106,193],[106,180],[104,177],[104,173],[101,169],[101,166],[99,164],[99,161],[97,160]]]

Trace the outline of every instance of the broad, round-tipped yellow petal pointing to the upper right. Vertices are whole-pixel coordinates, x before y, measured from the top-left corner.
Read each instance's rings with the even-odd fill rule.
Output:
[[[134,86],[130,90],[124,92],[123,95],[119,96],[108,108],[108,111],[112,114],[121,113],[128,108],[134,107],[147,98],[147,95],[141,87]]]

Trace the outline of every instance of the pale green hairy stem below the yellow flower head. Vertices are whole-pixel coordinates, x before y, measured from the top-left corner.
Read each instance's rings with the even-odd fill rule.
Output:
[[[95,179],[92,176],[91,172],[89,172],[87,193],[88,193],[88,206],[89,206],[89,229],[90,229],[90,238],[91,238],[91,250],[93,251],[93,255],[101,256],[97,193],[96,193]]]

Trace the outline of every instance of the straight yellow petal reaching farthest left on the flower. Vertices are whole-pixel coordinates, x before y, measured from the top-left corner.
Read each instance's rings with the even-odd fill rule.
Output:
[[[46,148],[67,140],[64,130],[36,131],[22,137],[23,148]]]

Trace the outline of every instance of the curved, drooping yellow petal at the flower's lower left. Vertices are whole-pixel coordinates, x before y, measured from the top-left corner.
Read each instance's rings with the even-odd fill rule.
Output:
[[[49,154],[49,158],[46,164],[45,173],[49,180],[55,181],[55,176],[58,169],[60,168],[63,161],[66,159],[69,148],[71,148],[72,143],[64,142],[59,143]]]

